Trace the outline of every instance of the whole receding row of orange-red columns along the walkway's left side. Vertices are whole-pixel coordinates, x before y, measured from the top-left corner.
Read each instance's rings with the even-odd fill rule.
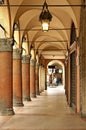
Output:
[[[45,68],[39,66],[35,55],[13,49],[13,39],[0,39],[0,115],[13,115],[14,106],[24,106],[23,101],[31,101],[45,89]]]

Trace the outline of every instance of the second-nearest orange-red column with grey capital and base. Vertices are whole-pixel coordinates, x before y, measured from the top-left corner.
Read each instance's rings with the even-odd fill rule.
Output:
[[[13,105],[23,106],[21,49],[13,50]]]

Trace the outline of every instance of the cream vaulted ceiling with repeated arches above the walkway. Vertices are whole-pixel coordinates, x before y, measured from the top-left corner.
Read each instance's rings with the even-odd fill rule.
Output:
[[[70,46],[71,24],[74,22],[79,36],[81,0],[47,0],[52,14],[50,29],[43,32],[39,15],[44,0],[7,0],[11,15],[11,26],[20,24],[20,41],[28,35],[29,44],[35,46],[45,59],[64,59]],[[12,27],[11,27],[12,28]]]

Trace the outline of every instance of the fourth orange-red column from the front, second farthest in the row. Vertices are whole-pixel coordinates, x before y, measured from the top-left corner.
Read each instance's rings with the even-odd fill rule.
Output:
[[[36,60],[30,60],[30,90],[31,97],[36,97],[36,86],[35,86],[35,65]]]

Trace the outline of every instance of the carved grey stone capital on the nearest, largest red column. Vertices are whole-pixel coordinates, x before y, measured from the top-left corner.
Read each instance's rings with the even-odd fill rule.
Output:
[[[11,52],[13,51],[13,39],[2,38],[0,39],[0,52]]]

